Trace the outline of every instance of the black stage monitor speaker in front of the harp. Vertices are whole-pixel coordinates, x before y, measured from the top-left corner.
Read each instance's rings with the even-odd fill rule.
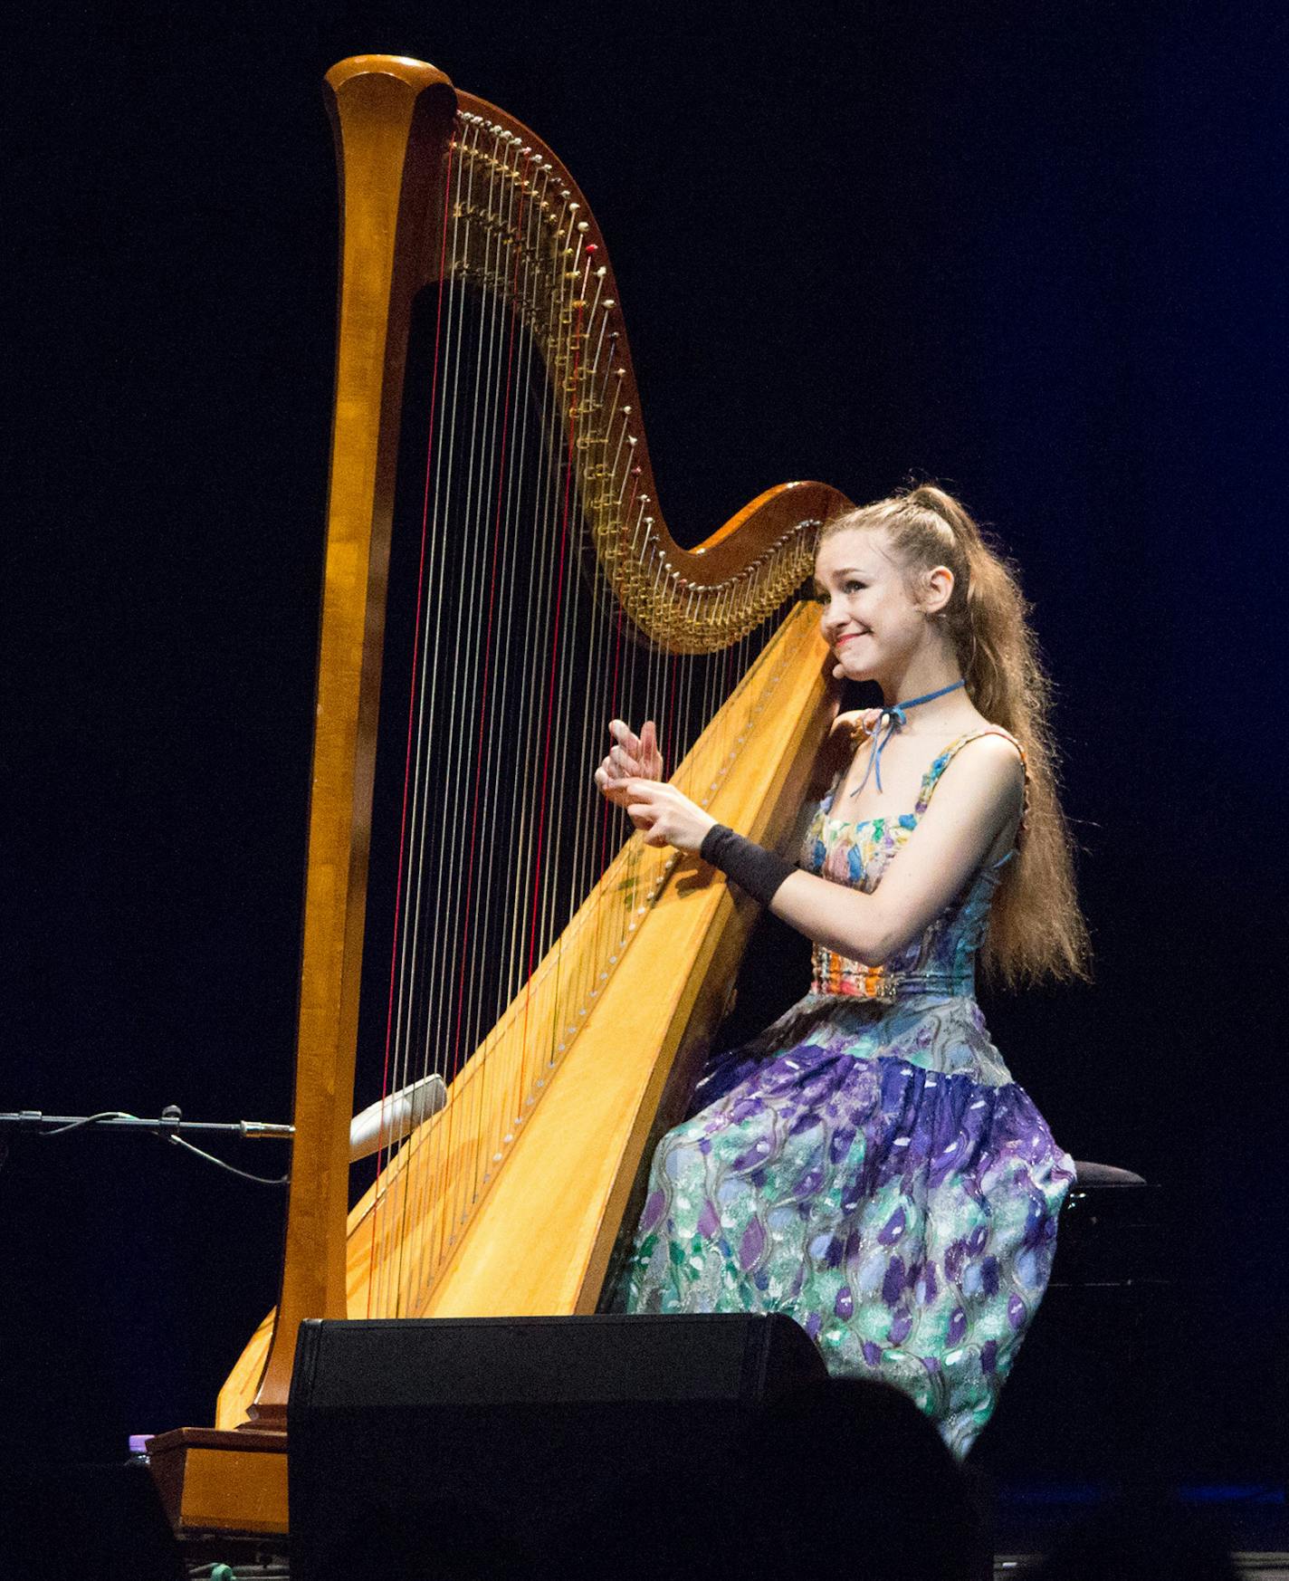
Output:
[[[610,1573],[632,1527],[663,1556],[656,1518],[716,1540],[760,1406],[825,1375],[782,1315],[306,1322],[292,1581]]]

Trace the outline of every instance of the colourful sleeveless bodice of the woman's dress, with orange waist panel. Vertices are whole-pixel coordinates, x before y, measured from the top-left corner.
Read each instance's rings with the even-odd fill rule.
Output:
[[[832,802],[845,773],[842,770],[815,809],[806,832],[799,865],[834,884],[872,893],[881,882],[881,874],[918,827],[940,776],[954,756],[981,735],[1002,735],[1009,740],[1020,753],[1024,765],[1025,753],[1008,730],[1000,726],[968,730],[949,741],[923,775],[913,811],[894,817],[869,817],[858,822],[832,817]],[[1002,881],[1003,868],[1014,854],[1016,847],[1013,846],[1002,860],[979,866],[962,892],[949,901],[926,931],[881,966],[847,960],[844,955],[817,944],[810,991],[888,1002],[910,994],[975,994],[976,952],[984,939],[989,907]]]

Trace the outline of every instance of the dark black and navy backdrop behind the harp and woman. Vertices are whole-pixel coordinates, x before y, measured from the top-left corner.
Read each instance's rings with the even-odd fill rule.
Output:
[[[911,473],[1019,560],[1096,982],[987,1012],[1073,1153],[1171,1187],[1177,1455],[1265,1469],[1284,43],[1270,5],[1153,0],[30,16],[3,90],[0,1108],[289,1113],[335,311],[319,79],[417,55],[588,193],[678,538],[788,477],[867,500]],[[16,1141],[0,1431],[98,1455],[209,1421],[278,1238],[276,1195],[177,1149]]]

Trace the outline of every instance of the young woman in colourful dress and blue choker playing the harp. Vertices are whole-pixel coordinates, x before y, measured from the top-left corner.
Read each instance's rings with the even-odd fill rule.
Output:
[[[815,580],[832,674],[886,707],[836,719],[799,866],[663,784],[652,726],[614,721],[596,773],[649,844],[815,942],[810,993],[719,1055],[662,1138],[626,1304],[788,1312],[831,1372],[905,1390],[965,1455],[1074,1173],[975,1001],[978,955],[1013,985],[1087,975],[1049,686],[1009,568],[940,489],[831,522]]]

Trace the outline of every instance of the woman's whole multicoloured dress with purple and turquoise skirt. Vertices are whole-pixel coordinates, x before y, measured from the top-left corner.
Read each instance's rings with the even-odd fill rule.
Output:
[[[834,819],[834,786],[801,866],[877,889],[948,764],[987,734],[1006,735],[945,748],[902,817]],[[975,999],[1011,855],[883,968],[815,947],[810,993],[716,1056],[659,1143],[622,1277],[633,1312],[787,1312],[829,1372],[905,1390],[957,1455],[1043,1298],[1074,1178]]]

